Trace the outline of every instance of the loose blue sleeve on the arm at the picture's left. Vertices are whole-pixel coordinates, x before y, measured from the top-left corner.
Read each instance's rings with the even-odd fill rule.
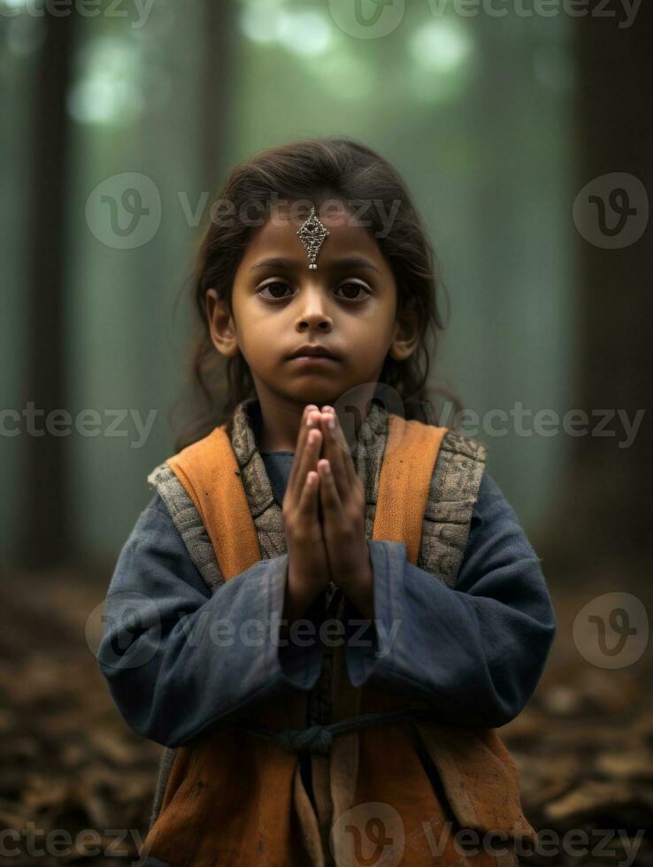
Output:
[[[309,691],[323,648],[280,646],[287,575],[288,555],[260,560],[211,595],[155,494],[119,554],[97,653],[127,725],[178,747],[279,690]]]

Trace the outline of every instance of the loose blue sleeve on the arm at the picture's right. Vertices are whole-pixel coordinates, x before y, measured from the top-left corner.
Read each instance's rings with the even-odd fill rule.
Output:
[[[367,544],[375,621],[357,641],[346,624],[352,684],[433,702],[458,725],[499,727],[518,716],[557,621],[540,560],[496,482],[484,472],[453,588],[407,561],[403,544]],[[356,617],[360,624],[347,600],[345,619]]]

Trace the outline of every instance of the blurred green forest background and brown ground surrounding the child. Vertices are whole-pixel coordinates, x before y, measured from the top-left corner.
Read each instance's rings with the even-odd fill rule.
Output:
[[[396,165],[426,221],[448,293],[438,381],[481,419],[519,404],[560,419],[470,432],[558,613],[541,684],[502,729],[526,817],[590,837],[585,855],[528,862],[653,864],[649,836],[629,842],[653,826],[650,4],[628,19],[616,2],[585,16],[497,3],[498,17],[409,0],[378,38],[348,31],[346,5],[0,0],[0,827],[98,829],[104,845],[107,829],[146,830],[160,748],[123,723],[93,648],[145,478],[173,453],[193,256],[234,163],[344,134]],[[117,242],[111,201],[125,223],[134,206],[120,184],[150,211]],[[41,432],[55,410],[68,430],[95,410],[103,429],[66,435],[59,416],[39,435],[30,405]],[[571,410],[585,435],[563,429]],[[590,615],[611,647],[629,623],[631,643],[597,647]],[[600,828],[614,858],[591,852]],[[8,863],[113,854],[20,847]]]

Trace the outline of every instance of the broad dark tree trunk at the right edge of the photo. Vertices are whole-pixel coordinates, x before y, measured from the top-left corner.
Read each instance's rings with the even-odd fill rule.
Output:
[[[618,18],[577,21],[574,196],[609,173],[631,174],[649,198],[653,195],[651,17],[650,4],[641,4],[631,27],[619,28]],[[636,201],[635,184],[623,185],[638,211],[628,219],[645,226],[646,209]],[[596,203],[596,213],[601,207]],[[618,223],[610,207],[605,217],[609,226]],[[583,566],[588,577],[595,569],[611,570],[623,587],[628,574],[623,567],[643,563],[650,550],[651,223],[623,249],[606,249],[606,237],[595,230],[588,242],[577,234],[580,334],[572,407],[585,410],[595,430],[571,438],[566,494],[550,516],[546,549],[565,565],[571,559]],[[603,432],[596,430],[599,410],[614,413]],[[627,447],[618,410],[631,423],[637,410],[640,415],[647,410]],[[606,436],[610,430],[616,435]]]

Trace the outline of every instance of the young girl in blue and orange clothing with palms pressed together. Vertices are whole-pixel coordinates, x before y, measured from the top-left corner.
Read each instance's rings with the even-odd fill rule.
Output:
[[[365,146],[227,178],[196,268],[204,412],[148,477],[98,655],[165,746],[144,863],[507,867],[536,839],[496,727],[556,618],[485,448],[429,423],[436,288]]]

